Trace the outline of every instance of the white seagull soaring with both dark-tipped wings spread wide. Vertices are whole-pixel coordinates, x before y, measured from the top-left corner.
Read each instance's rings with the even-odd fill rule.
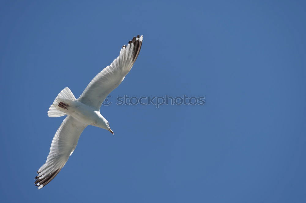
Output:
[[[124,45],[119,56],[91,80],[78,99],[68,87],[55,98],[48,116],[67,116],[53,137],[46,163],[37,171],[34,184],[38,189],[50,183],[65,166],[88,125],[114,134],[108,121],[101,115],[100,107],[107,95],[121,84],[131,70],[139,55],[142,39],[143,36],[138,35],[127,46]]]

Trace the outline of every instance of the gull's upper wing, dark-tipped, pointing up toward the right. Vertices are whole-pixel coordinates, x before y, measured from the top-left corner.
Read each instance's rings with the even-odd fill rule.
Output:
[[[140,52],[143,36],[133,37],[127,46],[123,46],[120,55],[110,66],[104,68],[88,84],[84,92],[77,99],[95,110],[99,111],[101,103],[122,82],[131,70]]]

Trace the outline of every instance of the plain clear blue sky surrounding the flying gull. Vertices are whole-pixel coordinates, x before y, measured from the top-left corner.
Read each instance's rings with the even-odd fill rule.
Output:
[[[1,202],[306,202],[305,1],[1,1]],[[205,105],[101,108],[65,167],[34,186],[64,117],[133,36],[118,96]]]

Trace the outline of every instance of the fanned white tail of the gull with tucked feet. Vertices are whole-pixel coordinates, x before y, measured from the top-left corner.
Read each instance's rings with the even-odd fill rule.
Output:
[[[71,90],[68,87],[66,87],[58,94],[53,104],[50,106],[48,111],[48,116],[49,117],[65,116],[66,113],[63,112],[63,110],[67,109],[67,106],[69,106],[69,103],[71,101],[75,102],[76,98],[71,92]]]

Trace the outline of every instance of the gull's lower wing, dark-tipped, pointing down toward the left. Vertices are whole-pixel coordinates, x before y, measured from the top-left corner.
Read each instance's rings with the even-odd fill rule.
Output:
[[[53,137],[46,163],[37,171],[35,184],[38,189],[47,185],[63,168],[86,126],[72,116],[64,119]]]

